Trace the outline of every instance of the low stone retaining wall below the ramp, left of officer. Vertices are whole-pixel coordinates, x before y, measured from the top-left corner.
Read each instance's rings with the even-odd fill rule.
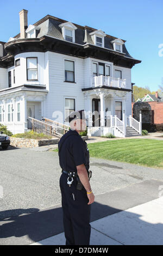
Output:
[[[35,148],[45,145],[58,144],[59,138],[55,139],[26,139],[10,137],[10,145],[16,148]]]

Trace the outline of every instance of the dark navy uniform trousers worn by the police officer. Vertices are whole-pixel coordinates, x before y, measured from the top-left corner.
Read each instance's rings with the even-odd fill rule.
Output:
[[[90,214],[91,205],[85,188],[77,190],[77,180],[74,178],[71,187],[67,184],[68,175],[60,176],[60,190],[66,245],[90,244]]]

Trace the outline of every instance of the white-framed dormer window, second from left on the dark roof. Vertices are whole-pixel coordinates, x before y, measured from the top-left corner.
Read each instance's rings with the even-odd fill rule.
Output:
[[[64,22],[59,25],[62,30],[62,36],[66,41],[75,42],[75,30],[77,29],[76,26],[73,25],[71,22]]]

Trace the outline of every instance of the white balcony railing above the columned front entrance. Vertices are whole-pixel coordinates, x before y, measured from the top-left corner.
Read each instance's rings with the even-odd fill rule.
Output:
[[[117,88],[126,88],[126,79],[111,76],[95,76],[90,80],[90,87],[109,86]]]

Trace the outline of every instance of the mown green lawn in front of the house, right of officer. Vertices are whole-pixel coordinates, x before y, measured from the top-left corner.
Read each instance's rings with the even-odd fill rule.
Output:
[[[87,147],[92,157],[163,169],[163,141],[156,139],[116,139],[89,143]]]

